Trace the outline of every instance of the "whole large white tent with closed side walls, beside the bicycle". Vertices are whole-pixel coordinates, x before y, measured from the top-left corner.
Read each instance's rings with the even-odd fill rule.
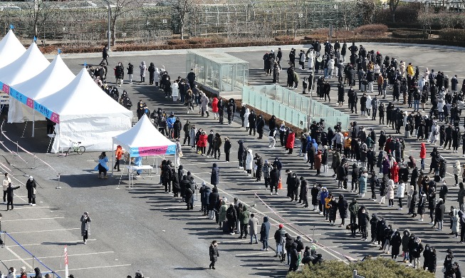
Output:
[[[81,142],[86,150],[112,148],[110,139],[131,128],[132,111],[110,98],[83,68],[60,91],[38,98],[34,108],[57,123],[52,150]]]

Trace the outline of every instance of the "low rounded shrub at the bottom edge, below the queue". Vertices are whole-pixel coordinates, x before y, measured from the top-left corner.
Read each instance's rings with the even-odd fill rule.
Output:
[[[345,264],[340,261],[324,261],[322,264],[305,265],[302,272],[290,272],[288,278],[347,278],[352,277],[353,270],[362,277],[382,278],[434,278],[434,274],[423,269],[412,269],[397,264],[392,259],[365,259],[363,262]]]

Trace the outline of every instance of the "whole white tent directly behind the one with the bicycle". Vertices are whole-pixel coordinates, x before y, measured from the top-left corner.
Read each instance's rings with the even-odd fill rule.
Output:
[[[58,54],[55,59],[44,69],[41,73],[34,76],[27,81],[21,82],[10,88],[11,96],[15,96],[16,92],[24,96],[21,103],[16,101],[15,104],[21,106],[21,109],[10,109],[8,113],[9,119],[23,119],[33,120],[32,137],[34,137],[34,122],[36,120],[36,113],[33,112],[33,118],[28,119],[23,115],[27,115],[33,110],[33,100],[50,96],[64,86],[68,85],[75,78],[74,74],[70,71],[68,66],[63,62],[61,56]],[[28,101],[29,100],[29,101]],[[28,110],[26,113],[24,110]],[[43,118],[43,117],[41,117]]]

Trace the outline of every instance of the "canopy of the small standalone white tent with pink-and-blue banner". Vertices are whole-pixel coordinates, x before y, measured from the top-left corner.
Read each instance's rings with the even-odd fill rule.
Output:
[[[176,153],[176,143],[164,137],[145,114],[130,130],[113,137],[113,143],[129,150],[131,157]]]

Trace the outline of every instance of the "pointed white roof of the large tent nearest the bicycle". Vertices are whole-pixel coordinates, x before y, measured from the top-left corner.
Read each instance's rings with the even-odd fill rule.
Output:
[[[38,98],[36,103],[60,116],[60,121],[91,117],[132,117],[127,110],[110,98],[83,68],[73,81],[50,96]]]

